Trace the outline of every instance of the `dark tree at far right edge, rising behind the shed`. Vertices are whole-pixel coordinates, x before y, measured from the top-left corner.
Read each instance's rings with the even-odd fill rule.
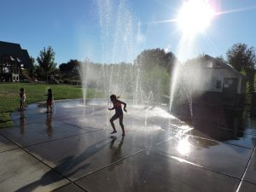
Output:
[[[247,44],[233,44],[227,51],[227,58],[231,66],[237,71],[244,71],[249,81],[249,93],[254,91],[254,73],[256,64],[255,49]]]

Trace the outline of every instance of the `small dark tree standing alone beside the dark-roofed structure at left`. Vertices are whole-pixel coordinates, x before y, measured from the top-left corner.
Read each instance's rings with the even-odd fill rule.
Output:
[[[39,67],[43,69],[44,78],[46,79],[46,83],[48,83],[49,73],[56,67],[54,50],[50,46],[47,49],[44,47],[44,49],[40,51],[37,61]]]

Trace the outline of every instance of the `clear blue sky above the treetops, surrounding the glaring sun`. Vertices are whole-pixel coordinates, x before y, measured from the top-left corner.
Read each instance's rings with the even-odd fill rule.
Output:
[[[183,0],[1,0],[0,41],[20,44],[34,58],[51,46],[58,64],[133,62],[156,48],[181,61],[225,58],[233,44],[256,47],[256,1],[206,1],[215,12],[209,26],[184,39],[176,21]]]

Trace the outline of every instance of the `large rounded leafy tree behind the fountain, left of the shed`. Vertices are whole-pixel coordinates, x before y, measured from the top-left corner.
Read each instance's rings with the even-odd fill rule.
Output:
[[[176,56],[164,49],[146,49],[137,55],[141,91],[148,99],[160,102],[163,95],[169,94],[170,75],[176,61]]]

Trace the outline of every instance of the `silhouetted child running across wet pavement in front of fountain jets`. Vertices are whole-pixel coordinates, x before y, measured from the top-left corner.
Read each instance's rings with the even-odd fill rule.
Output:
[[[113,133],[116,133],[116,129],[115,129],[115,126],[113,124],[113,121],[115,119],[119,119],[119,125],[121,126],[122,128],[122,131],[123,131],[123,134],[122,136],[125,136],[125,127],[123,125],[123,110],[122,110],[122,104],[124,105],[124,111],[126,111],[126,103],[125,102],[121,102],[118,100],[119,97],[115,96],[115,95],[112,95],[110,96],[110,100],[111,102],[113,102],[113,108],[108,108],[108,110],[113,110],[115,109],[115,114],[113,115],[113,117],[110,119],[110,124],[112,125],[113,127],[113,131],[111,132],[111,134]]]

